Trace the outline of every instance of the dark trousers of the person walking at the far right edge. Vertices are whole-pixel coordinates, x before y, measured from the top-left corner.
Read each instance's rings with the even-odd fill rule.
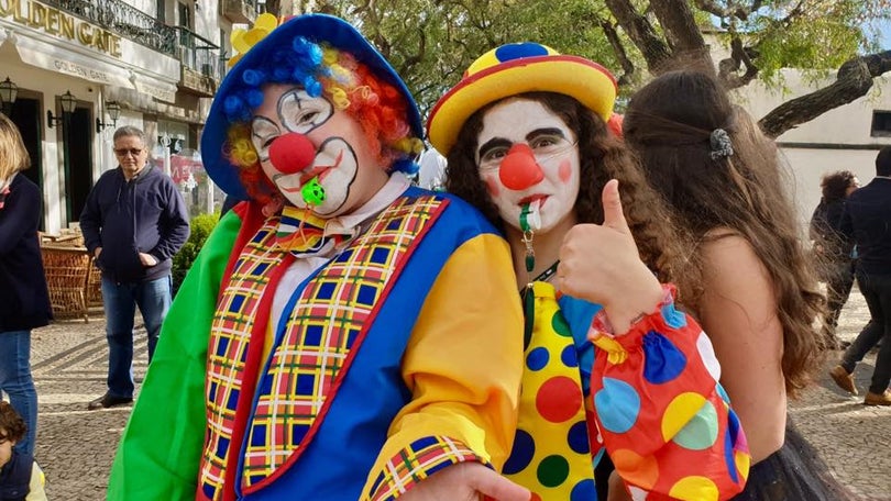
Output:
[[[870,319],[845,350],[842,367],[848,372],[854,372],[857,363],[864,359],[876,343],[883,339],[876,357],[872,382],[869,386],[869,391],[881,394],[891,382],[891,275],[868,275],[858,271],[857,285],[866,299]]]

